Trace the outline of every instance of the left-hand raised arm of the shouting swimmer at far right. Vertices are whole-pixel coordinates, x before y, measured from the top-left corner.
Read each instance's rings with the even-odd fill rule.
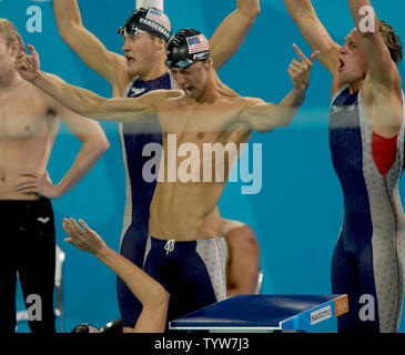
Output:
[[[311,0],[283,1],[306,42],[314,51],[320,51],[320,62],[335,77],[338,68],[340,45],[332,40],[317,18]]]

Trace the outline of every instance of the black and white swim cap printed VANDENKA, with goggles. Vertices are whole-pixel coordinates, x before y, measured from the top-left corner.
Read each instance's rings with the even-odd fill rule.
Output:
[[[159,37],[168,42],[172,27],[168,16],[162,10],[155,8],[141,8],[130,16],[123,27],[118,29],[118,33],[123,36],[124,32],[136,33],[139,30]]]

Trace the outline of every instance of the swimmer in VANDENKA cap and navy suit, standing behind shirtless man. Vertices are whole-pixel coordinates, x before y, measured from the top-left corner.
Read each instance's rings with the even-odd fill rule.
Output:
[[[145,1],[144,8],[146,3],[151,2]],[[215,70],[236,52],[260,12],[259,0],[237,0],[234,3],[237,8],[221,22],[210,41]],[[58,30],[64,41],[111,84],[114,98],[138,98],[155,90],[178,88],[164,64],[170,39],[168,32],[171,30],[166,16],[150,8],[133,12],[119,31],[124,40],[123,55],[119,55],[100,45],[101,41],[83,26],[78,0],[54,0],[53,9]],[[85,45],[82,45],[83,41]],[[159,122],[120,123],[119,132],[128,178],[120,253],[142,267],[155,183],[142,179],[142,169],[149,158],[142,156],[141,152],[146,144],[162,144],[162,134]],[[117,288],[123,329],[132,332],[142,310],[141,303],[122,280],[118,281]]]

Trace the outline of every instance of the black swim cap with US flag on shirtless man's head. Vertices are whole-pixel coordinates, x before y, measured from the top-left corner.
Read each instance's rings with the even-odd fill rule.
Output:
[[[166,54],[165,64],[181,69],[211,58],[205,36],[193,29],[183,29],[175,33],[168,43]]]

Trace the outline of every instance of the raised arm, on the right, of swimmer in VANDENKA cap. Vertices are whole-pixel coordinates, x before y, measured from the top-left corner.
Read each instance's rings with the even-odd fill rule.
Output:
[[[210,40],[216,71],[237,51],[260,13],[260,0],[237,0],[236,3],[236,10],[222,21]]]

